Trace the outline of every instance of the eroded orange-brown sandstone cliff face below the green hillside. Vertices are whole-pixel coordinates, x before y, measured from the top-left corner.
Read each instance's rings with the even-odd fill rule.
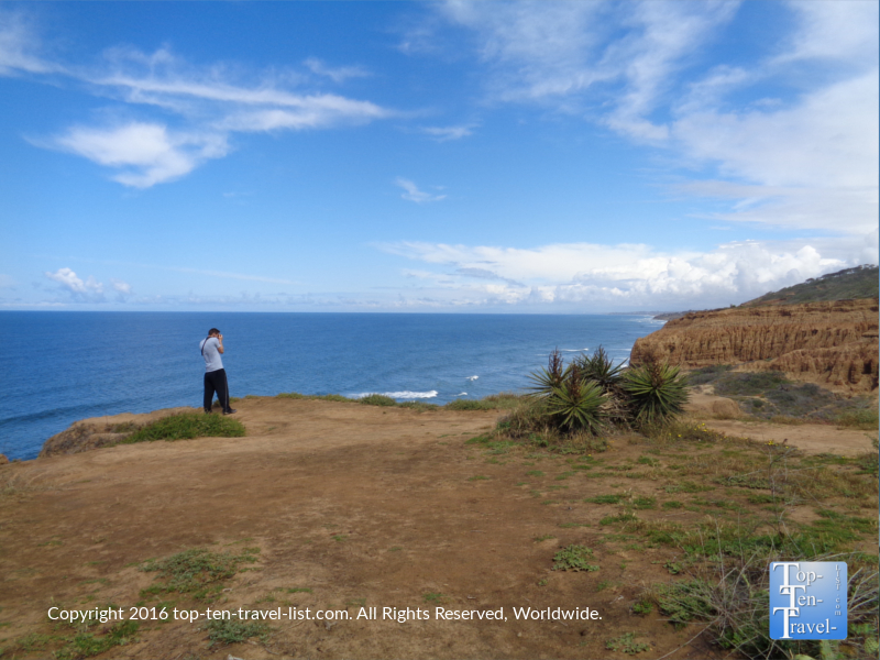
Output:
[[[691,312],[636,341],[630,362],[649,355],[685,369],[710,364],[776,370],[849,392],[878,385],[878,301],[837,300]]]

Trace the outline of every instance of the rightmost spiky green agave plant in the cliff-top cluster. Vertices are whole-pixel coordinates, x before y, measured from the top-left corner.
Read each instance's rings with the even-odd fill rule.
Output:
[[[686,377],[667,362],[629,369],[622,387],[629,395],[637,424],[678,417],[688,403]]]

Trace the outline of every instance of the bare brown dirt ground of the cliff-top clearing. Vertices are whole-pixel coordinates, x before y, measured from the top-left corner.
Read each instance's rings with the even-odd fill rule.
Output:
[[[244,547],[258,548],[260,560],[219,601],[166,600],[201,612],[346,609],[351,620],[268,622],[263,642],[215,647],[204,618],[146,622],[135,641],[97,657],[617,659],[630,656],[606,642],[627,632],[650,646],[639,658],[722,657],[702,638],[689,644],[698,628],[675,630],[656,612],[631,613],[647,585],[670,580],[663,564],[675,552],[607,544],[598,521],[613,507],[584,502],[619,487],[649,495],[661,484],[613,473],[586,479],[565,455],[494,455],[466,444],[494,427],[494,411],[278,398],[237,406],[245,438],[124,444],[0,466],[0,648],[13,648],[0,657],[52,657],[57,646],[35,641],[28,654],[10,644],[59,635],[46,618],[53,605],[135,605],[155,578],[138,570],[151,558]],[[855,448],[825,429],[811,444],[805,427],[782,428],[809,451]],[[618,438],[603,457],[635,462],[641,451]],[[594,548],[601,570],[553,571],[553,554],[572,543]],[[438,606],[503,608],[507,620],[436,620]],[[430,619],[358,620],[361,607],[378,607],[380,616],[383,607],[409,607]],[[590,607],[602,618],[516,620],[514,607]]]

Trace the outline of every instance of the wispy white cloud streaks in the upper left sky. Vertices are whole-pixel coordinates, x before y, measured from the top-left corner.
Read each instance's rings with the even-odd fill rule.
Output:
[[[0,24],[8,15],[0,14]],[[148,188],[177,179],[211,158],[230,153],[232,133],[301,131],[362,124],[395,113],[376,103],[340,95],[301,91],[306,76],[292,72],[235,70],[199,67],[162,47],[152,53],[118,46],[97,65],[66,65],[41,56],[36,32],[21,18],[0,28],[0,75],[46,74],[80,85],[99,98],[127,103],[148,113],[162,108],[166,119],[125,120],[69,127],[52,138],[32,139],[38,146],[59,148],[114,170],[124,186]],[[317,59],[306,66],[334,81],[363,76],[358,67],[331,68]],[[246,82],[240,80],[246,79]],[[257,80],[253,82],[252,80]],[[167,113],[174,122],[167,120]],[[170,124],[174,124],[172,128]]]

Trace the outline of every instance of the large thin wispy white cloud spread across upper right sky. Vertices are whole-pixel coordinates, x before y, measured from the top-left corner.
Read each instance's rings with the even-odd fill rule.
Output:
[[[693,190],[730,200],[724,220],[864,233],[878,213],[878,7],[777,6],[788,12],[777,41],[707,70],[738,2],[461,1],[438,15],[472,35],[491,100],[582,114],[661,147],[702,170]],[[748,197],[732,198],[736,186]]]

